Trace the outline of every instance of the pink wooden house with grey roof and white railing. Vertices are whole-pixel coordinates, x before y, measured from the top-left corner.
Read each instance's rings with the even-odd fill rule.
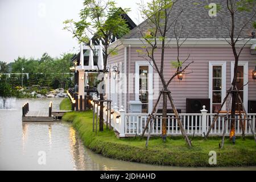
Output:
[[[212,123],[214,113],[221,106],[226,91],[231,86],[233,79],[234,56],[232,48],[224,38],[229,38],[226,24],[221,22],[218,15],[210,17],[205,9],[211,1],[178,1],[174,5],[173,17],[183,9],[179,22],[183,24],[183,38],[187,38],[180,52],[181,58],[185,59],[190,55],[189,60],[194,61],[184,75],[183,79],[176,78],[169,86],[174,97],[174,102],[183,118],[185,129],[188,134],[202,135],[208,130]],[[224,1],[213,1],[224,3]],[[224,6],[223,6],[224,7]],[[243,14],[237,17],[236,26],[241,27],[250,14]],[[170,20],[171,21],[171,20]],[[151,113],[162,83],[150,61],[139,56],[137,50],[144,46],[141,33],[148,31],[150,24],[144,21],[135,27],[129,35],[116,40],[113,47],[118,46],[118,55],[110,57],[108,67],[112,72],[106,77],[106,97],[113,101],[114,116],[112,125],[119,134],[119,137],[129,137],[140,134],[146,122],[148,113]],[[170,42],[166,49],[164,76],[170,78],[175,73],[171,61],[176,60],[177,49],[175,40],[171,40],[173,31],[170,29],[168,35]],[[241,39],[255,35],[251,24],[246,26]],[[247,40],[247,39],[246,39]],[[237,43],[242,47],[245,41]],[[241,88],[241,97],[245,104],[249,117],[252,119],[255,130],[256,113],[256,38],[251,39],[243,49],[238,70],[238,88]],[[159,57],[160,53],[155,54]],[[112,69],[114,68],[114,69]],[[118,76],[112,73],[118,73]],[[245,85],[248,82],[247,85]],[[245,85],[245,86],[243,86]],[[130,103],[142,102],[140,113],[132,113]],[[205,106],[205,107],[203,107]],[[112,107],[113,108],[113,107]],[[225,107],[224,107],[225,108]],[[168,105],[167,109],[171,109]],[[225,110],[225,109],[224,109]],[[159,113],[160,115],[160,113]],[[170,110],[168,113],[168,134],[180,135],[179,127]],[[160,135],[162,119],[155,122],[152,134]],[[241,133],[239,123],[236,125],[237,134]],[[222,135],[224,121],[219,118],[211,134]],[[229,131],[227,131],[228,134]],[[250,129],[246,125],[246,134]]]

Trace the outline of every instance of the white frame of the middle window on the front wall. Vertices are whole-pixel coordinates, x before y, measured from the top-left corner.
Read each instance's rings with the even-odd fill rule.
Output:
[[[221,66],[222,67],[222,79],[221,79],[221,102],[224,101],[226,97],[226,61],[209,61],[209,99],[210,99],[210,111],[212,113],[212,75],[213,75],[213,66]],[[226,110],[226,104],[222,107],[222,109]]]

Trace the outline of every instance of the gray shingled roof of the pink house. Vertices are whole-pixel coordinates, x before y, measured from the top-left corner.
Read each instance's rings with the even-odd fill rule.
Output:
[[[209,10],[205,9],[205,5],[209,3],[217,3],[222,5],[222,8],[226,7],[226,1],[224,0],[214,0],[214,1],[196,1],[196,0],[178,0],[173,9],[172,9],[172,18],[169,22],[173,22],[177,15],[183,9],[183,13],[178,19],[177,26],[181,27],[183,25],[183,33],[181,38],[188,39],[215,39],[215,38],[229,38],[228,28],[230,27],[229,16],[225,14],[218,13],[217,17],[210,18],[208,15]],[[239,13],[239,16],[236,16],[236,27],[240,27],[251,18],[253,13]],[[254,16],[255,20],[256,17]],[[126,39],[138,39],[142,37],[142,33],[148,31],[150,28],[149,20],[145,20],[139,24],[136,28],[130,31],[129,34],[124,36]],[[179,30],[179,29],[178,29]],[[247,38],[251,35],[251,32],[255,31],[252,24],[248,24],[245,30],[243,31],[242,38]],[[174,38],[174,28],[171,28],[167,32],[168,38]]]

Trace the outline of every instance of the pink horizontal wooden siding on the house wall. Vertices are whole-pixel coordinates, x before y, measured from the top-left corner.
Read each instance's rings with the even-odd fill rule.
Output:
[[[131,48],[131,64],[130,72],[135,73],[135,62],[144,61],[142,57],[138,56],[136,52],[140,48]],[[127,55],[129,55],[129,48],[127,48]],[[226,89],[230,87],[230,67],[231,61],[233,61],[233,53],[230,48],[181,48],[180,59],[185,60],[190,55],[187,63],[194,61],[194,63],[187,69],[187,73],[192,72],[189,75],[184,75],[182,81],[175,78],[171,82],[169,88],[174,97],[175,105],[177,109],[181,109],[185,113],[186,98],[209,98],[209,61],[226,61]],[[160,52],[156,52],[156,59],[158,59],[158,65],[160,65]],[[176,60],[176,48],[169,48],[166,50],[165,64],[164,64],[164,77],[166,80],[170,78],[175,69],[171,66],[171,61]],[[121,61],[119,59],[119,61]],[[256,81],[252,78],[252,71],[256,65],[256,56],[251,55],[250,48],[245,48],[241,53],[240,61],[249,61],[249,97],[248,100],[256,100]],[[127,64],[129,63],[127,56]],[[185,65],[184,65],[185,66]],[[128,65],[127,65],[128,68]],[[128,73],[128,72],[127,72]],[[154,71],[154,73],[156,73]],[[131,83],[131,80],[129,80]],[[133,84],[135,81],[133,80]],[[159,90],[162,89],[162,83],[159,80]],[[154,90],[154,88],[153,88]],[[135,100],[134,86],[133,93],[130,93],[130,100]],[[153,102],[153,105],[155,104]],[[170,107],[170,105],[168,105]]]

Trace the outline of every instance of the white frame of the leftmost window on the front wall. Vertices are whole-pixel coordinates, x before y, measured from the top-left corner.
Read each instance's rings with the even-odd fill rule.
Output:
[[[135,100],[139,101],[139,67],[148,66],[148,113],[153,109],[153,67],[148,61],[135,62]]]

